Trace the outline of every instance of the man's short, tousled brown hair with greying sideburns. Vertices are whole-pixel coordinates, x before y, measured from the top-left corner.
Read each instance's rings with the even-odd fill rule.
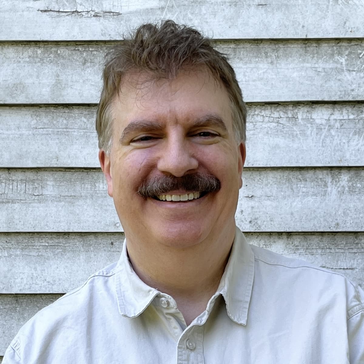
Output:
[[[110,153],[112,120],[110,105],[126,73],[151,72],[156,78],[173,79],[185,67],[205,66],[225,86],[232,102],[233,128],[237,142],[245,141],[246,106],[235,72],[226,55],[215,50],[193,28],[166,20],[161,25],[141,25],[131,39],[112,47],[106,56],[103,88],[96,116],[99,149]]]

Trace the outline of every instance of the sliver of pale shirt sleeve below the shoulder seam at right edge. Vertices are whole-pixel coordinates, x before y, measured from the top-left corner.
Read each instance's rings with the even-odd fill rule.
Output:
[[[350,364],[364,363],[364,305],[348,319]]]

